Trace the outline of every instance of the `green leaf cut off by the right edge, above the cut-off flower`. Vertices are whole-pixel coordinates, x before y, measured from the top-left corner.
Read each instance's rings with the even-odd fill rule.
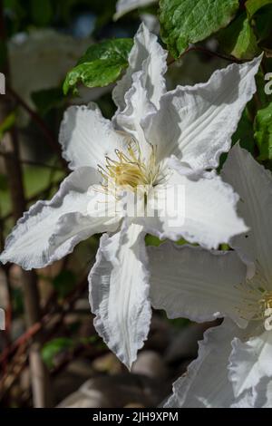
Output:
[[[272,102],[257,111],[254,130],[260,152],[259,160],[272,160]]]

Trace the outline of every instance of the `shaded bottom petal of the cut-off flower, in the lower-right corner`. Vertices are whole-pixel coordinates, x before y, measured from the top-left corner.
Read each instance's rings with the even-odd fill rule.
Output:
[[[231,341],[243,332],[231,320],[210,328],[199,342],[199,356],[173,385],[166,408],[248,407],[248,395],[236,399],[228,381]]]

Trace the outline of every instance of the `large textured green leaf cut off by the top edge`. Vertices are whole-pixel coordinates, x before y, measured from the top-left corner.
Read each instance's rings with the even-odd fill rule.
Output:
[[[238,0],[160,0],[162,40],[178,58],[190,43],[197,43],[229,24]]]

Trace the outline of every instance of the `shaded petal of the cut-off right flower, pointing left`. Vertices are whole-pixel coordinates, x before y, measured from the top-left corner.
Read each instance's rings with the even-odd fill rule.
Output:
[[[242,295],[236,285],[246,279],[247,266],[235,252],[209,252],[167,242],[149,247],[151,304],[170,318],[212,321],[228,315],[241,326],[237,311]]]

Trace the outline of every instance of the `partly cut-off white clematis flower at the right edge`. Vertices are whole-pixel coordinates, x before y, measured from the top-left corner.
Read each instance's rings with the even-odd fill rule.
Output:
[[[167,407],[272,406],[272,176],[238,145],[222,176],[250,228],[233,238],[236,251],[166,244],[149,253],[155,308],[198,322],[228,316],[206,332]]]

